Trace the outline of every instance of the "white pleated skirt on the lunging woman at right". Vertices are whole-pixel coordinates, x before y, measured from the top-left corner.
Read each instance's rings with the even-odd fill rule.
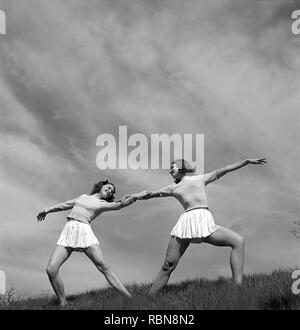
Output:
[[[191,239],[191,243],[201,243],[204,237],[211,235],[219,228],[209,210],[196,208],[180,216],[170,235],[181,239]]]

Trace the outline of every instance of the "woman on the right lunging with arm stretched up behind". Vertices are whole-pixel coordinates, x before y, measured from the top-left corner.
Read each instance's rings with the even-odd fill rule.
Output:
[[[208,208],[205,186],[226,173],[235,171],[248,164],[266,164],[265,158],[247,159],[224,168],[197,175],[195,168],[184,159],[171,164],[170,174],[174,183],[150,192],[139,199],[155,197],[175,197],[183,206],[184,213],[171,231],[165,261],[150,289],[156,294],[167,285],[171,273],[190,243],[209,243],[215,246],[229,246],[230,266],[234,283],[241,284],[244,268],[244,239],[234,231],[218,226]]]

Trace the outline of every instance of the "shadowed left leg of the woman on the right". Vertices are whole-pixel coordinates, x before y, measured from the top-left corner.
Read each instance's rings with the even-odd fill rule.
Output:
[[[157,274],[154,283],[149,291],[151,295],[155,295],[159,290],[161,290],[165,285],[167,285],[171,273],[176,268],[179,259],[184,254],[189,244],[189,239],[180,239],[174,236],[170,238],[165,262],[160,272]]]

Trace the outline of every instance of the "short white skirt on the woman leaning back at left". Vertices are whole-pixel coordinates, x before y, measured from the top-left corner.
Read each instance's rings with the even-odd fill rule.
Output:
[[[91,245],[99,244],[99,241],[89,224],[77,220],[69,220],[56,243],[73,249],[85,249]]]

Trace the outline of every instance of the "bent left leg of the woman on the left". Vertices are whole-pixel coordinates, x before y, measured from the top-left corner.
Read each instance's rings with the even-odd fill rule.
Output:
[[[50,256],[46,270],[60,306],[66,305],[67,299],[65,295],[64,284],[62,278],[59,275],[59,268],[70,257],[71,253],[71,249],[56,245]]]

